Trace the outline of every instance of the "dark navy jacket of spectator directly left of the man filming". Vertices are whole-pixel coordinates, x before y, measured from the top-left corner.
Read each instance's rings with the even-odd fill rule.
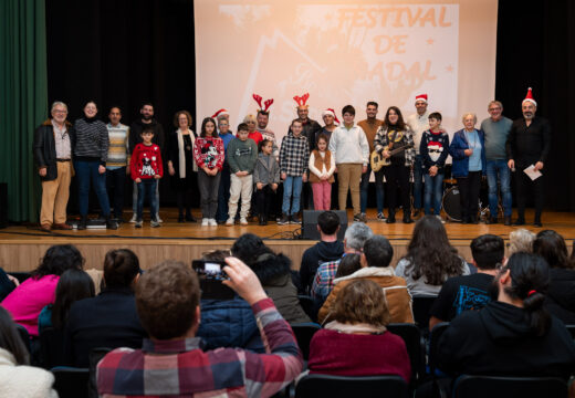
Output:
[[[92,348],[142,348],[148,334],[139,322],[133,291],[108,287],[72,304],[64,336],[66,363],[87,367]]]

